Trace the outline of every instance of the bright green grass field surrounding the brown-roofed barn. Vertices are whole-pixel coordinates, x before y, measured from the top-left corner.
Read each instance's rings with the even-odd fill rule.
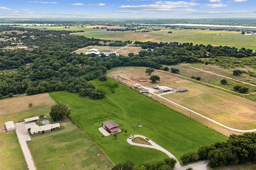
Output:
[[[196,151],[200,146],[226,141],[223,135],[111,78],[106,82],[94,80],[92,84],[104,90],[106,98],[90,100],[65,91],[52,92],[50,95],[56,102],[71,107],[70,117],[114,164],[130,160],[139,165],[167,157],[158,150],[129,145],[126,140],[132,134],[139,133],[150,138],[178,159],[182,154]],[[113,120],[120,125],[122,132],[117,137],[103,137],[98,131],[106,120]],[[139,123],[142,125],[140,128]]]

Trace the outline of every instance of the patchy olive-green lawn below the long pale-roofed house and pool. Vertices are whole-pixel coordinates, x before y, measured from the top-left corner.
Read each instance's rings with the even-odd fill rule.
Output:
[[[109,170],[113,167],[112,162],[70,120],[60,125],[65,129],[34,135],[28,142],[38,170]]]

